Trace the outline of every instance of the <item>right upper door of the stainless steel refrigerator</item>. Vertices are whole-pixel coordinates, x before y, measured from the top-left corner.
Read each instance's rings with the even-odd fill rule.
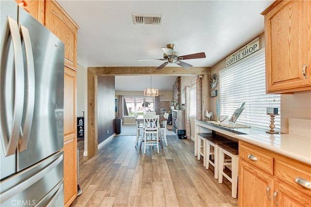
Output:
[[[64,44],[21,7],[18,24],[30,38],[30,41],[22,38],[27,93],[17,152],[17,171],[20,171],[63,148]],[[29,42],[34,78],[31,66],[27,65],[31,58],[27,55]],[[34,106],[28,107],[31,104]]]

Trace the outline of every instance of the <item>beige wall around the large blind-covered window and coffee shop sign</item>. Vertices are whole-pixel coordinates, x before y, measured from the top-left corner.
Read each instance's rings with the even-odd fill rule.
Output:
[[[260,41],[261,41],[260,46],[262,49],[264,49],[265,47],[264,33],[260,34]],[[245,58],[245,60],[247,59]],[[237,64],[241,64],[241,62],[238,62]],[[225,68],[225,59],[221,60],[220,62],[212,66],[211,74],[216,73],[219,78],[219,71],[224,68]],[[219,98],[219,84],[217,84],[216,89],[218,90],[218,96],[209,97],[210,107],[207,109],[208,111],[212,111],[213,114],[216,114],[216,99]],[[307,92],[297,92],[294,93],[293,95],[281,95],[280,110],[281,110],[281,133],[288,133],[288,118],[311,119],[311,92],[307,91]],[[214,116],[213,119],[215,118],[216,117]]]

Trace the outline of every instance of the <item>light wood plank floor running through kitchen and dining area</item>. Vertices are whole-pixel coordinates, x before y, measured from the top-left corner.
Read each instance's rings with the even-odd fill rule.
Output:
[[[219,184],[213,167],[203,167],[193,155],[194,143],[168,136],[169,146],[147,147],[146,154],[135,147],[135,136],[117,136],[95,157],[83,157],[79,147],[79,184],[83,190],[71,204],[109,207],[234,207],[231,183]]]

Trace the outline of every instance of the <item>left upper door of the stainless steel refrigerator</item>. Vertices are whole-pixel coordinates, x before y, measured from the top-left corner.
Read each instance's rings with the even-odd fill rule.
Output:
[[[8,17],[17,22],[17,3],[15,1],[0,1],[0,179],[16,172],[16,143],[10,142],[14,127],[14,100],[15,100],[15,56],[8,25]],[[17,24],[17,23],[16,23]],[[18,26],[17,26],[18,27]],[[10,32],[11,31],[11,32]],[[18,32],[18,28],[17,28]],[[18,32],[19,33],[19,32]],[[19,43],[20,44],[20,43]],[[21,51],[20,51],[21,52]],[[18,124],[18,123],[17,123]],[[17,131],[18,132],[18,131]],[[17,135],[18,133],[14,134]],[[14,136],[16,136],[14,135]],[[8,143],[12,146],[13,155],[6,155]],[[15,148],[15,149],[14,149]],[[11,154],[11,153],[9,153]]]

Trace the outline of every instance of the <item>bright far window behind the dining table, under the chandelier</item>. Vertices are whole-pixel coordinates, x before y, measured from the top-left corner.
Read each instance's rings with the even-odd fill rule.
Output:
[[[124,97],[124,100],[127,110],[124,111],[125,116],[134,116],[134,113],[142,115],[147,111],[154,111],[154,97]]]

